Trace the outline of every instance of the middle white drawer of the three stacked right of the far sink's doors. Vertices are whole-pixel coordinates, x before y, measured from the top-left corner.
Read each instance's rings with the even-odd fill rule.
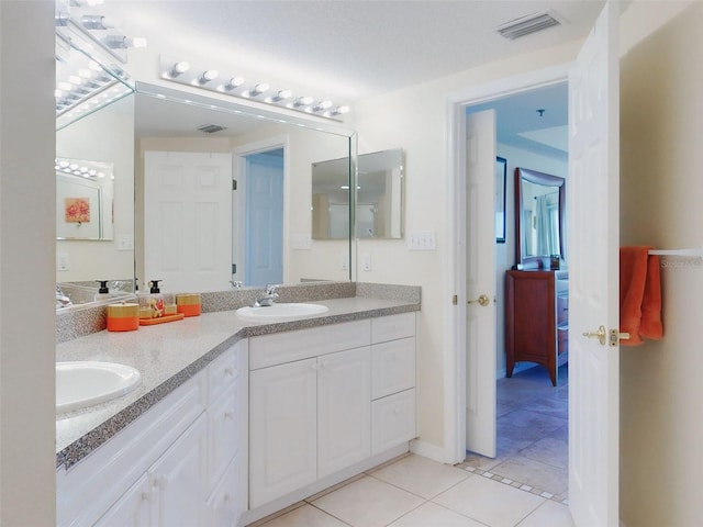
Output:
[[[415,337],[371,346],[371,399],[415,386]]]

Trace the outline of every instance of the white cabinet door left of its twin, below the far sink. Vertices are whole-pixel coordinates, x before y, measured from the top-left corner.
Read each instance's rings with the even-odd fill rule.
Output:
[[[249,508],[316,479],[316,365],[306,359],[250,372]]]

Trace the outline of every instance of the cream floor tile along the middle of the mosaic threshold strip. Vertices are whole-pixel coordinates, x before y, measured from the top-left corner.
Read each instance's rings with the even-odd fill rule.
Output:
[[[545,498],[471,475],[433,501],[491,527],[514,527]]]

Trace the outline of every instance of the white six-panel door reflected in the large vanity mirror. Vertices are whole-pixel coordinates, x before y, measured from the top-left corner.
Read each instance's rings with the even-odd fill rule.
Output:
[[[144,273],[165,291],[231,287],[230,154],[144,154]]]

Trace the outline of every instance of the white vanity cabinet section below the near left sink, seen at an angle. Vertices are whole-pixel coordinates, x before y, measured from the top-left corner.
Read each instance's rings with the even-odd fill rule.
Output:
[[[58,526],[235,525],[246,508],[247,341],[57,472]]]

